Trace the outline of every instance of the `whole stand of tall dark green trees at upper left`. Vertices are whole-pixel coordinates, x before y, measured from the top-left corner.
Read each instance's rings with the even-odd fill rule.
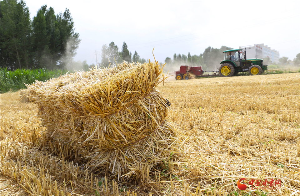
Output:
[[[73,64],[81,39],[68,8],[55,14],[43,5],[30,19],[23,0],[1,1],[1,68],[65,69]]]

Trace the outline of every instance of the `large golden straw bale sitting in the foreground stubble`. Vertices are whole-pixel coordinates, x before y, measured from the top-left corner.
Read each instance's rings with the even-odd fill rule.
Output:
[[[124,62],[27,85],[47,127],[42,146],[119,178],[162,164],[177,143],[155,90],[161,73],[158,63]]]

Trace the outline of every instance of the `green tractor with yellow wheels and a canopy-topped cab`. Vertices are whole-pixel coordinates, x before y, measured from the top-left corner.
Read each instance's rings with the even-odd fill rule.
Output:
[[[219,75],[222,77],[230,77],[237,75],[239,72],[248,71],[250,75],[261,75],[267,70],[267,65],[262,64],[262,59],[246,59],[245,52],[242,49],[225,50],[224,60],[219,68]]]

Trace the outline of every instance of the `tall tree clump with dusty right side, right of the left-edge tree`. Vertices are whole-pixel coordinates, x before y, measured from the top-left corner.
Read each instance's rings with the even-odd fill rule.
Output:
[[[54,9],[43,5],[33,18],[34,66],[47,69],[72,68],[80,39],[68,8],[55,16]]]

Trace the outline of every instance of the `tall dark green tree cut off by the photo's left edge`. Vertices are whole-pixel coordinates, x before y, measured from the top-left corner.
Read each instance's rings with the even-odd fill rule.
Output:
[[[1,67],[8,70],[30,64],[31,20],[24,1],[1,1]]]

